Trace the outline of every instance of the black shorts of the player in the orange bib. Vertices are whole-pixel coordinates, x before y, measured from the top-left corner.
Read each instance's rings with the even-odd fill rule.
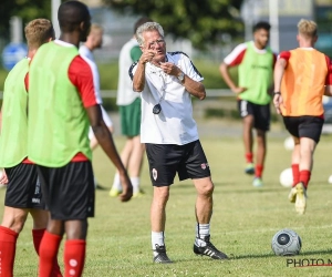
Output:
[[[324,119],[319,116],[283,116],[288,132],[295,137],[309,137],[319,143]]]

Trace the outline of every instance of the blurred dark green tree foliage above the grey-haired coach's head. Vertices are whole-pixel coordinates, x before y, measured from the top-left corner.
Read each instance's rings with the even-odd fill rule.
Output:
[[[199,49],[243,30],[238,19],[243,0],[103,0],[113,10],[144,14],[175,39],[187,38]]]

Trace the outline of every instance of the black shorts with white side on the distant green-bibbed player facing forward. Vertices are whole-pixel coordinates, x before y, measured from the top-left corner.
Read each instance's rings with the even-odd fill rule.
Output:
[[[240,116],[243,119],[247,115],[253,116],[253,127],[261,131],[270,130],[271,111],[270,104],[259,105],[247,100],[238,100],[238,109]]]

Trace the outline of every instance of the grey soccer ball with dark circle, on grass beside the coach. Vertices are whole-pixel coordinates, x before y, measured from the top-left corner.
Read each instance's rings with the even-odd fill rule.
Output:
[[[273,236],[271,247],[278,256],[294,256],[300,253],[302,243],[292,229],[281,229]]]

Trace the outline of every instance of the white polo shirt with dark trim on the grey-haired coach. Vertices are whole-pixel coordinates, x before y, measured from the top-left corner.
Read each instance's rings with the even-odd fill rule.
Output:
[[[204,78],[183,52],[166,54],[168,62],[176,64],[194,81]],[[129,74],[133,78],[137,64],[133,64]],[[141,142],[153,144],[184,145],[198,140],[196,122],[193,119],[191,95],[176,76],[164,73],[160,68],[146,63],[145,88],[142,95]],[[153,113],[160,104],[162,112]]]

